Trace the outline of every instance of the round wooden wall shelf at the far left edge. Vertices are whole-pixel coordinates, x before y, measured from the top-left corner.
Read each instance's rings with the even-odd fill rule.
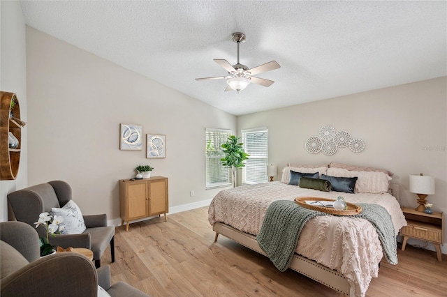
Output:
[[[11,108],[11,102],[13,107]],[[22,146],[22,127],[20,105],[15,93],[0,92],[0,180],[12,180],[17,177]],[[16,147],[9,146],[9,133],[18,140]]]

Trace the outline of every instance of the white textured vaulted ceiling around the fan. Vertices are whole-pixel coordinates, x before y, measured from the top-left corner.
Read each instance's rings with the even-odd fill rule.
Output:
[[[447,75],[446,1],[21,1],[25,22],[241,115]],[[275,60],[274,80],[224,92],[213,59]]]

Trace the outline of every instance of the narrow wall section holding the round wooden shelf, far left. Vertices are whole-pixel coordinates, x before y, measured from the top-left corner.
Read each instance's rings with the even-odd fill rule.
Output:
[[[27,65],[22,8],[19,1],[0,1],[0,10],[0,89],[17,94],[20,117],[27,121]],[[0,181],[0,222],[8,220],[6,195],[27,186],[27,131],[28,126],[22,130],[22,153],[17,178],[13,181]]]

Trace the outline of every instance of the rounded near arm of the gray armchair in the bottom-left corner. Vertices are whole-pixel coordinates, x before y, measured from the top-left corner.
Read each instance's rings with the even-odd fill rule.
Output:
[[[96,296],[93,262],[74,252],[52,254],[1,279],[1,296]]]

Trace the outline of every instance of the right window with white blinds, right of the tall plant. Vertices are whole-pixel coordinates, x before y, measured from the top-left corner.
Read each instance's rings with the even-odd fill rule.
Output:
[[[242,130],[242,143],[249,159],[242,170],[242,183],[265,183],[268,164],[268,130],[254,128]]]

